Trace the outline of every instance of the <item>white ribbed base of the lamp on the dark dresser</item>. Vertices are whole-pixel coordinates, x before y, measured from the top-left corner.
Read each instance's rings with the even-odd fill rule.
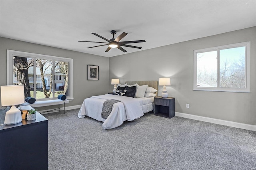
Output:
[[[14,105],[6,112],[4,123],[6,125],[13,125],[22,121],[21,112]]]

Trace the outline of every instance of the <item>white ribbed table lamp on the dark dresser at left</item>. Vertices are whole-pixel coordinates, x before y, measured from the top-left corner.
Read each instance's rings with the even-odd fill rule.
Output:
[[[6,85],[1,86],[1,105],[12,106],[6,112],[4,123],[13,125],[22,121],[21,112],[15,107],[24,102],[24,86],[23,85]]]

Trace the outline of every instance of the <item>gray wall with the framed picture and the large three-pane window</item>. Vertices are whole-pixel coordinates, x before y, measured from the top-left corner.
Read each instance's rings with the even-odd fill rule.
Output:
[[[0,85],[6,85],[6,50],[24,51],[73,59],[73,97],[66,106],[82,105],[85,98],[109,91],[109,58],[45,45],[0,38]],[[99,80],[87,80],[87,65],[99,65]],[[44,107],[44,109],[47,109]]]

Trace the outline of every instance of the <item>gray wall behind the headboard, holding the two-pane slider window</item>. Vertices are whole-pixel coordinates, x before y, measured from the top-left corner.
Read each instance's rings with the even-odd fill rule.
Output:
[[[170,37],[171,38],[171,37]],[[251,93],[193,91],[193,50],[220,45],[251,42]],[[109,78],[158,80],[170,77],[169,97],[176,97],[176,111],[256,125],[256,27],[176,43],[154,49],[110,57]],[[110,86],[110,91],[113,89]],[[159,87],[158,95],[162,92]],[[190,108],[186,108],[186,103]]]

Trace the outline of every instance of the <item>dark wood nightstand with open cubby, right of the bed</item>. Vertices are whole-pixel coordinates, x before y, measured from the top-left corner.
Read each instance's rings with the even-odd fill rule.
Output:
[[[156,116],[172,118],[175,116],[175,98],[160,96],[154,97],[155,113]]]

